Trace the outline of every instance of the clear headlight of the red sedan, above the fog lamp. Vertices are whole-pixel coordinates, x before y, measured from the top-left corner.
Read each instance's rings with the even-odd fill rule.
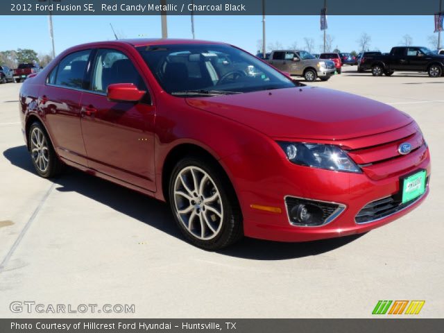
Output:
[[[347,153],[331,144],[301,144],[278,142],[290,162],[306,167],[360,173],[361,169]]]

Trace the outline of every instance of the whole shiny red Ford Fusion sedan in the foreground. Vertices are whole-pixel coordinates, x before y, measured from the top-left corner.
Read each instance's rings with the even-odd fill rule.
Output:
[[[25,81],[20,117],[40,176],[68,164],[167,201],[208,250],[367,232],[429,192],[429,149],[407,114],[223,43],[75,46]]]

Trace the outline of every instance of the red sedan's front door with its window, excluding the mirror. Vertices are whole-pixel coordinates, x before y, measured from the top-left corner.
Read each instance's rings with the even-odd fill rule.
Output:
[[[99,49],[89,91],[80,101],[88,166],[144,189],[155,191],[155,106],[137,64],[121,49]],[[108,85],[133,83],[146,91],[137,103],[108,101]]]

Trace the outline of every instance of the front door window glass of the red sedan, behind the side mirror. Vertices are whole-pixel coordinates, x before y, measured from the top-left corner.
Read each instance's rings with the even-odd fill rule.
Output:
[[[117,50],[100,49],[92,76],[92,91],[105,93],[108,85],[115,83],[133,83],[139,90],[147,90],[142,76],[127,56]]]

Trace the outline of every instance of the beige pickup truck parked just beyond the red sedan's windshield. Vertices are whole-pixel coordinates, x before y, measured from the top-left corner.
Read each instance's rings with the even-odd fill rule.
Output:
[[[268,63],[290,75],[303,76],[307,81],[316,78],[326,81],[334,74],[333,62],[319,60],[307,51],[272,51]]]

